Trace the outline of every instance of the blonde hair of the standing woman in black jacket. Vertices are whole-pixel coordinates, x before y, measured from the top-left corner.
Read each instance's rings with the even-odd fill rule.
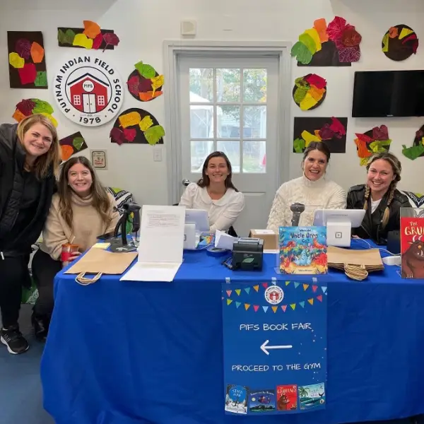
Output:
[[[37,159],[35,159],[33,165],[33,171],[35,176],[38,179],[42,179],[47,176],[49,173],[49,169],[53,166],[54,175],[57,175],[59,170],[60,163],[60,147],[59,147],[59,138],[57,136],[56,127],[53,125],[52,121],[49,118],[45,117],[45,115],[37,113],[30,115],[29,117],[25,117],[18,124],[18,129],[16,130],[16,135],[18,136],[18,141],[21,146],[25,149],[23,144],[23,138],[27,131],[31,129],[35,124],[44,125],[52,134],[52,144],[50,145],[49,150],[41,155]]]

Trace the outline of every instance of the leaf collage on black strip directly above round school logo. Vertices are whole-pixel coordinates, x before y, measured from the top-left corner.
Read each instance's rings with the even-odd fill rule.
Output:
[[[59,47],[78,47],[104,52],[119,45],[119,37],[113,30],[102,30],[91,20],[84,20],[83,23],[84,28],[57,28]]]

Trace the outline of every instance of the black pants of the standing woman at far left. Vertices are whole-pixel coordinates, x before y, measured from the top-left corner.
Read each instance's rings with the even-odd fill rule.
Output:
[[[22,286],[30,285],[29,255],[0,257],[0,310],[4,328],[18,324]]]

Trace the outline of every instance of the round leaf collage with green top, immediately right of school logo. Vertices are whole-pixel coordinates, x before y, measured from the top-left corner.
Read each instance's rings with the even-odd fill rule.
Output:
[[[141,102],[148,102],[163,94],[163,75],[159,75],[153,66],[143,64],[142,61],[135,64],[135,70],[129,74],[126,86],[129,93]]]

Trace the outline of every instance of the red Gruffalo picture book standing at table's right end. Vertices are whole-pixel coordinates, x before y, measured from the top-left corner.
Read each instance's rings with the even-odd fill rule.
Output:
[[[424,278],[423,209],[401,209],[401,273],[402,278]]]

